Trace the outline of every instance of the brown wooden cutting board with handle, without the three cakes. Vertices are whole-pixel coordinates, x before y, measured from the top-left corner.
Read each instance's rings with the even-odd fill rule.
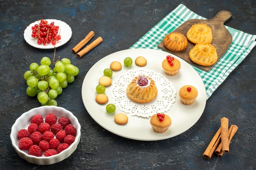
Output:
[[[229,48],[231,42],[232,42],[232,36],[225,28],[224,23],[229,20],[231,17],[231,13],[229,11],[220,11],[213,17],[212,19],[209,20],[199,20],[199,19],[192,19],[184,22],[181,26],[176,28],[173,32],[178,32],[182,33],[186,37],[186,33],[191,28],[193,24],[207,24],[211,28],[212,34],[213,34],[213,40],[211,42],[211,45],[213,45],[216,48],[217,55],[218,55],[218,60],[225,54],[227,49]],[[186,47],[185,50],[181,52],[174,52],[171,50],[168,50],[165,46],[163,41],[160,42],[158,45],[158,48],[161,48],[162,50],[165,50],[166,52],[170,52],[171,54],[174,54],[188,63],[191,63],[192,65],[195,65],[196,67],[204,70],[204,71],[209,71],[213,65],[211,66],[202,66],[194,63],[190,58],[189,58],[189,51],[195,46],[195,44],[191,43],[188,40],[188,46]],[[218,62],[218,61],[217,61]],[[216,62],[216,63],[217,63]]]

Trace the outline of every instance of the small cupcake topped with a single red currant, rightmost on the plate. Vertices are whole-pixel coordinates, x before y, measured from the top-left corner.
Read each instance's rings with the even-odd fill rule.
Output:
[[[198,90],[193,85],[184,85],[180,88],[179,94],[184,105],[191,105],[198,96]]]

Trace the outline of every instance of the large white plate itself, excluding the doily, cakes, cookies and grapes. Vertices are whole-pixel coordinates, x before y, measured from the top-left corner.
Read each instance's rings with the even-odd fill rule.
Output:
[[[191,65],[174,55],[174,57],[179,59],[181,69],[175,76],[168,76],[162,69],[162,61],[167,55],[169,55],[169,53],[164,51],[139,48],[115,52],[98,61],[88,71],[82,85],[83,104],[90,116],[104,129],[116,135],[135,140],[154,141],[168,139],[180,135],[191,128],[202,116],[206,105],[204,83]],[[138,56],[143,56],[147,59],[146,66],[139,67],[135,65],[135,59]],[[131,57],[133,59],[132,66],[129,68],[126,68],[123,63],[126,57]],[[112,63],[112,61],[119,61],[122,63],[122,69],[113,72],[111,77],[112,81],[115,81],[120,74],[126,73],[129,69],[144,68],[163,74],[173,83],[177,93],[173,106],[165,113],[168,114],[172,120],[171,126],[165,133],[156,133],[153,131],[150,125],[150,118],[130,116],[129,114],[127,114],[128,123],[126,125],[118,125],[114,122],[114,116],[121,111],[117,108],[114,113],[107,113],[105,109],[106,105],[99,105],[95,101],[95,96],[97,95],[95,87],[98,85],[99,78],[103,76],[103,70],[105,68],[110,68],[110,63]],[[180,102],[179,90],[183,85],[193,85],[198,89],[198,97],[192,105],[183,105]],[[110,88],[111,87],[106,87],[105,92],[109,98],[107,104],[112,103],[112,98],[110,98]]]

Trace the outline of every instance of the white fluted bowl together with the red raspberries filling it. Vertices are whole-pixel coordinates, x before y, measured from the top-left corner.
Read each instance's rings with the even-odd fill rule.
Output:
[[[30,163],[50,165],[63,161],[77,148],[81,125],[73,113],[42,106],[23,113],[11,127],[11,144]]]

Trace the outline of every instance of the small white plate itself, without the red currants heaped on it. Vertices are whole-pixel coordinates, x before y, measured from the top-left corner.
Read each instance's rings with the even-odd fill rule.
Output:
[[[63,44],[66,44],[68,40],[70,40],[72,36],[72,30],[69,25],[67,25],[65,22],[61,20],[52,20],[52,19],[47,19],[48,23],[54,22],[54,25],[59,26],[59,33],[61,35],[61,39],[56,42],[55,47],[62,46]],[[29,26],[24,31],[24,39],[27,41],[27,43],[35,48],[40,48],[40,49],[51,49],[54,48],[52,43],[46,44],[45,46],[43,44],[37,44],[37,39],[31,37],[32,34],[32,26],[35,24],[38,24],[40,22],[36,21],[31,23]]]

